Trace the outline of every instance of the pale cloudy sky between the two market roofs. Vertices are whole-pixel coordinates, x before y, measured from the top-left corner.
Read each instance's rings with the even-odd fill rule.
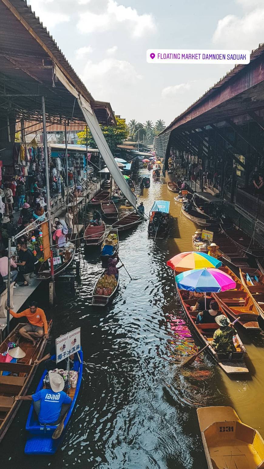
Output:
[[[28,0],[93,98],[127,122],[168,125],[230,65],[149,64],[147,49],[264,42],[264,0]]]

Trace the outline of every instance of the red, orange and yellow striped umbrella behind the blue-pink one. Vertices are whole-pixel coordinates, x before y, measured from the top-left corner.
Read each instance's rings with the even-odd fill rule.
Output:
[[[167,261],[167,265],[177,272],[203,267],[218,268],[222,262],[209,256],[205,252],[188,251],[181,252]]]

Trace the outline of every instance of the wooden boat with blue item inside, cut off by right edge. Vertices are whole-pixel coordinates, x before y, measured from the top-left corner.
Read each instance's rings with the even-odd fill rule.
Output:
[[[259,269],[239,269],[243,286],[249,292],[260,316],[264,319],[264,275]]]

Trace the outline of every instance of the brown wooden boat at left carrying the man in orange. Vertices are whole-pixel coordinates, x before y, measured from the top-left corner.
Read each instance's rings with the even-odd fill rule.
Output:
[[[24,396],[30,386],[30,383],[36,373],[37,367],[35,360],[40,360],[46,346],[46,339],[40,339],[36,346],[23,339],[18,331],[25,323],[15,326],[13,331],[0,345],[0,353],[3,354],[8,349],[8,342],[17,342],[19,339],[19,347],[25,352],[25,356],[17,360],[16,363],[0,362],[0,371],[8,372],[8,375],[0,376],[0,441],[15,417],[15,414],[22,401],[14,401],[13,396]],[[50,333],[52,321],[48,324],[48,332]]]

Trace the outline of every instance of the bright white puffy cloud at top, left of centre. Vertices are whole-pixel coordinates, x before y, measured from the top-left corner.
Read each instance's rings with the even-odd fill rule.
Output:
[[[107,0],[104,13],[93,13],[91,10],[79,15],[78,29],[83,33],[102,32],[115,29],[124,23],[132,36],[140,38],[156,30],[156,24],[151,14],[139,15],[135,8],[118,5],[114,0]]]

